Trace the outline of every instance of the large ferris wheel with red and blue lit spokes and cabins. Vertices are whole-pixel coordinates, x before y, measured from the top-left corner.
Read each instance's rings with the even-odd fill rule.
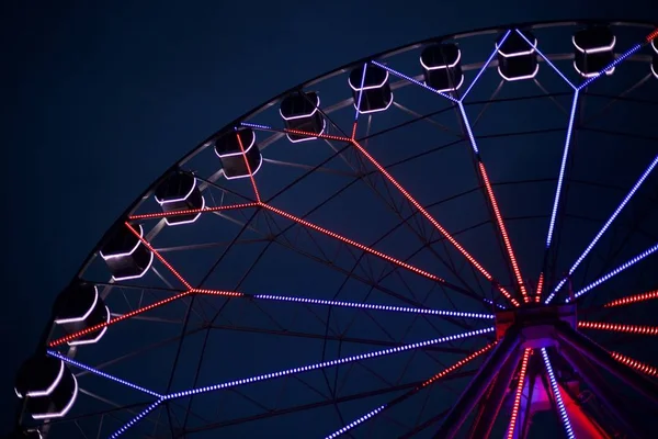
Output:
[[[656,437],[657,37],[446,35],[219,130],[57,297],[19,437]]]

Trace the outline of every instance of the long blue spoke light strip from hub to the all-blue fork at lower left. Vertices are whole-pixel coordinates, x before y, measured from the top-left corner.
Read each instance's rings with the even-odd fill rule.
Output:
[[[404,346],[399,346],[397,348],[388,348],[388,349],[384,349],[384,350],[377,350],[374,352],[367,352],[367,353],[361,353],[358,356],[339,358],[337,360],[322,361],[320,363],[304,365],[300,368],[286,369],[286,370],[280,371],[280,372],[264,373],[262,375],[256,375],[256,376],[251,376],[251,378],[247,378],[247,379],[242,379],[242,380],[228,381],[225,383],[208,385],[205,387],[191,389],[191,390],[184,391],[184,392],[171,393],[171,394],[164,396],[163,398],[164,399],[175,399],[175,398],[180,398],[180,397],[197,395],[201,393],[214,392],[214,391],[218,391],[222,389],[230,389],[230,387],[235,387],[235,386],[242,385],[242,384],[250,384],[250,383],[265,381],[265,380],[270,380],[270,379],[274,379],[274,378],[292,375],[294,373],[309,372],[313,370],[331,368],[334,365],[345,364],[345,363],[350,363],[353,361],[367,360],[371,358],[388,356],[392,353],[405,352],[408,350],[419,349],[419,348],[423,348],[426,346],[438,345],[438,344],[442,344],[442,342],[446,342],[446,341],[458,340],[462,338],[475,337],[475,336],[484,335],[487,333],[492,333],[494,330],[495,330],[494,327],[489,327],[489,328],[485,328],[485,329],[472,330],[468,333],[455,334],[452,336],[434,338],[432,340],[419,341],[419,342],[411,344],[411,345],[404,345]]]

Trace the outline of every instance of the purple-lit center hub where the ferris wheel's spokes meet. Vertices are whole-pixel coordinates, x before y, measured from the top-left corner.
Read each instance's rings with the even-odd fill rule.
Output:
[[[496,337],[502,338],[514,327],[523,348],[545,348],[555,345],[555,327],[563,323],[576,328],[575,304],[524,304],[496,313]]]

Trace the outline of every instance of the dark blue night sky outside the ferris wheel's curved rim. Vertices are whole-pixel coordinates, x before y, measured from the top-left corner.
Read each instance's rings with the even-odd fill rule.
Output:
[[[240,114],[354,59],[435,35],[658,16],[647,0],[90,3],[9,1],[0,14],[2,426],[12,423],[15,371],[89,251],[145,188]]]

